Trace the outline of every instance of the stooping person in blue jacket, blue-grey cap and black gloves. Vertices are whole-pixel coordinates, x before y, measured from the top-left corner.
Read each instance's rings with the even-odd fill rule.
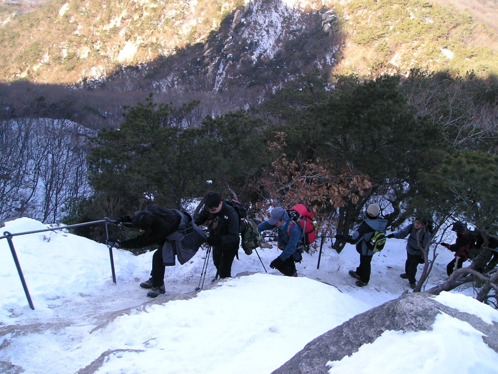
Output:
[[[257,228],[260,232],[277,228],[277,243],[282,253],[270,262],[270,268],[277,269],[283,275],[297,277],[296,262],[303,259],[303,247],[300,243],[302,232],[297,224],[291,225],[288,232],[290,221],[287,211],[277,206],[271,211],[270,218],[261,222]]]

